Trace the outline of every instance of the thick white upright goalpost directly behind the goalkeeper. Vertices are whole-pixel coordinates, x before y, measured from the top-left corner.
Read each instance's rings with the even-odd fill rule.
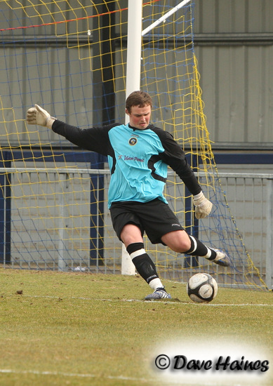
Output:
[[[140,89],[141,41],[142,41],[142,0],[128,0],[126,98]],[[128,124],[128,116],[125,116]],[[135,266],[122,244],[121,274],[134,275]]]

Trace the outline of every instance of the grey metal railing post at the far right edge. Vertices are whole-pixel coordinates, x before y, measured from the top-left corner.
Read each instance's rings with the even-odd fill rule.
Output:
[[[269,290],[273,289],[273,180],[267,180],[267,239],[265,284]]]

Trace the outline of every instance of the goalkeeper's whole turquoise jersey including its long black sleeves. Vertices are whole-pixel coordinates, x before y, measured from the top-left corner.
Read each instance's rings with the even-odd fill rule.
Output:
[[[163,191],[168,166],[189,192],[201,192],[180,145],[161,128],[149,125],[140,130],[128,124],[112,124],[81,129],[56,120],[52,129],[83,149],[107,156],[111,171],[109,207],[116,201],[147,202],[157,198],[167,203]]]

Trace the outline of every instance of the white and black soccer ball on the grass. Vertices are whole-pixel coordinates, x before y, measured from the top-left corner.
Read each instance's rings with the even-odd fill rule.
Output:
[[[187,294],[194,302],[211,302],[217,291],[218,285],[210,274],[194,274],[187,283]]]

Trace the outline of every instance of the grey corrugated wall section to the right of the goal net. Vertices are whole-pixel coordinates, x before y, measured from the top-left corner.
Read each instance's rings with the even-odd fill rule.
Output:
[[[273,1],[196,0],[195,53],[211,140],[273,142]]]

